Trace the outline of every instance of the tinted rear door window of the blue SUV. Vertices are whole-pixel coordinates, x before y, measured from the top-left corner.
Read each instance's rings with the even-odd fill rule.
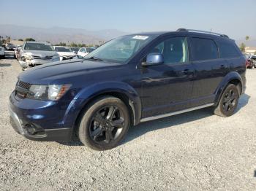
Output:
[[[203,61],[219,58],[218,49],[213,40],[192,38],[192,43],[192,53],[194,61]]]

